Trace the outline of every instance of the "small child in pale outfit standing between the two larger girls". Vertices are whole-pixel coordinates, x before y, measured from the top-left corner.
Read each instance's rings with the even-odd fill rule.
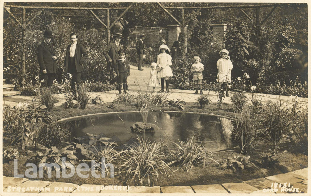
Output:
[[[190,71],[193,73],[194,84],[196,84],[196,91],[194,94],[197,94],[197,90],[200,88],[200,94],[203,94],[202,90],[202,80],[203,80],[203,70],[204,65],[201,63],[201,57],[199,55],[195,55],[193,57],[194,63],[191,66]]]

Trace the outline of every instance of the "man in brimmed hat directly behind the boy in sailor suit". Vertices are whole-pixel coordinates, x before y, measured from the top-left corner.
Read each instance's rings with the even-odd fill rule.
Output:
[[[118,59],[118,51],[123,50],[123,45],[120,44],[120,41],[123,38],[122,34],[116,33],[113,38],[114,41],[108,43],[104,48],[104,57],[107,61],[107,72],[109,72],[109,75],[114,70],[114,63]]]

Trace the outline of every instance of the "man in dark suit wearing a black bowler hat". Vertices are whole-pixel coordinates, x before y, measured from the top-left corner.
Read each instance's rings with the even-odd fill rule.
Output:
[[[56,73],[54,48],[52,46],[51,39],[53,38],[52,31],[45,30],[43,42],[38,45],[38,62],[40,66],[41,80],[44,80],[43,86],[51,87]]]

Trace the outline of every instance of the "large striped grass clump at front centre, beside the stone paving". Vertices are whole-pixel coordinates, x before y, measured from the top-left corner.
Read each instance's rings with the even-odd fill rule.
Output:
[[[155,185],[159,175],[173,172],[169,163],[165,163],[161,142],[151,142],[148,139],[137,139],[137,146],[128,150],[119,158],[117,175],[124,177],[124,184],[134,182],[135,185]]]

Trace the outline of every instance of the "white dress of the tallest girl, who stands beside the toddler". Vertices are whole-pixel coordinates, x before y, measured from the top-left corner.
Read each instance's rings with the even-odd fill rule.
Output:
[[[171,68],[169,67],[172,65],[171,55],[166,52],[159,54],[156,64],[162,67],[162,69],[158,72],[158,78],[174,76]]]

